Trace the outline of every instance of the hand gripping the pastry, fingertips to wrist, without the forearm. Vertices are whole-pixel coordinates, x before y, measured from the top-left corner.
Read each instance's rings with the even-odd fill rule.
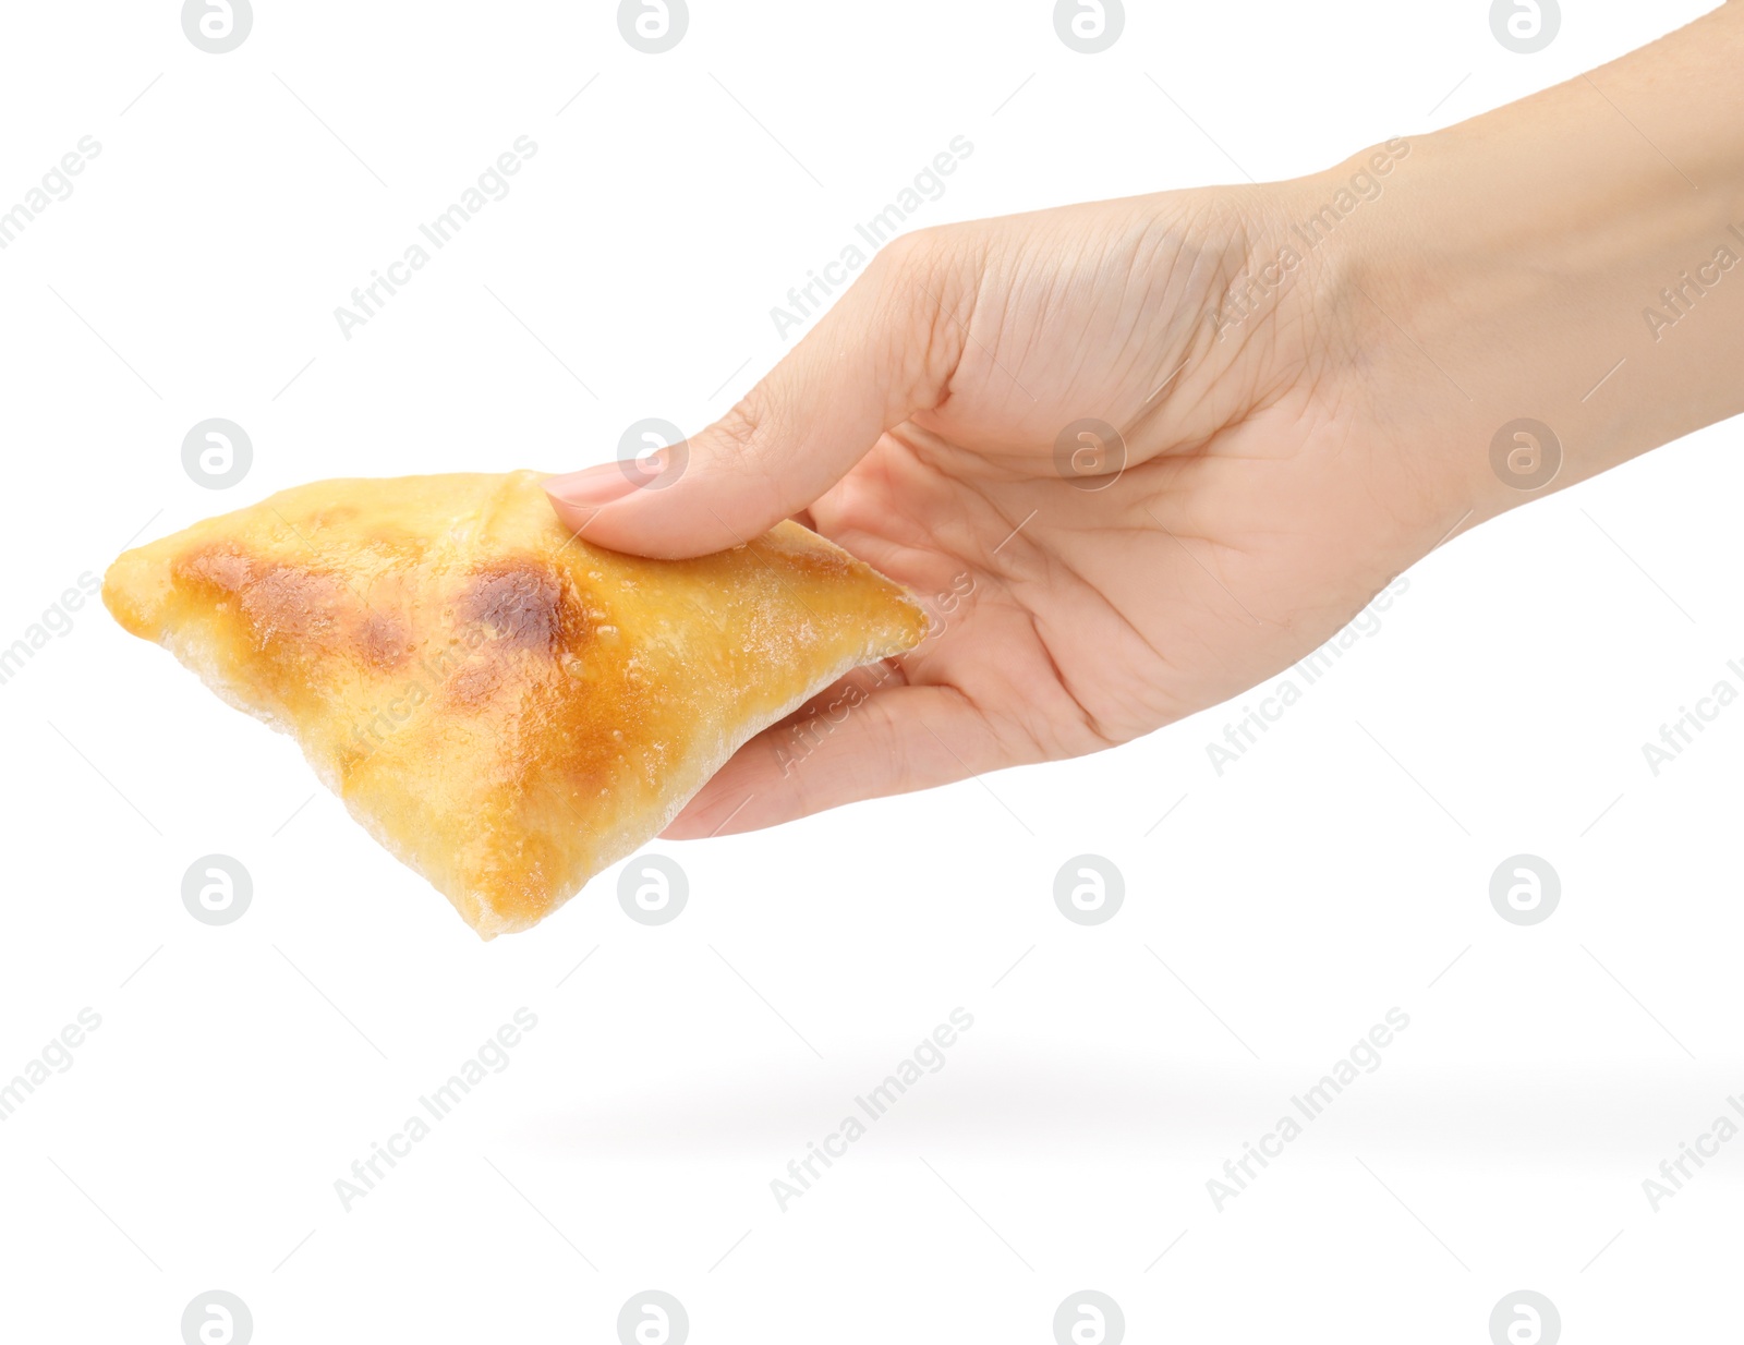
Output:
[[[1448,532],[1460,511],[1374,433],[1338,265],[1277,263],[1287,218],[1247,188],[910,236],[678,480],[553,481],[588,541],[645,555],[800,515],[935,614],[900,675],[748,743],[670,834],[1149,733],[1296,661]],[[619,497],[595,513],[588,485]]]

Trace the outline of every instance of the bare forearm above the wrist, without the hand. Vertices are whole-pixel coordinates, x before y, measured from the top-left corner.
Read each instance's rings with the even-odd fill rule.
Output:
[[[1561,487],[1744,412],[1741,68],[1732,3],[1413,138],[1386,208],[1352,220],[1355,302],[1420,347],[1481,516],[1543,494],[1491,469],[1514,419],[1554,431]]]

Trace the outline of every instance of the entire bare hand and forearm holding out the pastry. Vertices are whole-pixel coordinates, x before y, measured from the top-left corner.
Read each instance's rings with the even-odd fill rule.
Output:
[[[1741,65],[1728,5],[1311,178],[909,236],[664,488],[616,464],[548,483],[588,541],[651,556],[799,516],[938,616],[666,834],[1151,733],[1291,666],[1448,537],[1744,410],[1744,263],[1720,256],[1744,262]],[[1519,417],[1554,443],[1510,440],[1498,471]],[[1062,450],[1085,419],[1118,440]]]

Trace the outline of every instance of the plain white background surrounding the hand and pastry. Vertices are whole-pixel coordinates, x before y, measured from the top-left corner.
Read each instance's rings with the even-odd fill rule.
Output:
[[[917,225],[1291,176],[1706,5],[1566,3],[1535,56],[1481,0],[1134,3],[1100,56],[1036,0],[692,0],[663,56],[609,3],[262,2],[225,56],[176,9],[3,19],[0,209],[103,150],[0,251],[0,644],[141,527],[708,422],[952,136]],[[513,192],[347,342],[335,305],[523,134]],[[215,415],[255,445],[220,494],[180,462]],[[1659,778],[1641,743],[1744,684],[1737,452],[1718,426],[1434,553],[1221,778],[1250,698],[656,846],[671,925],[614,872],[488,946],[290,740],[84,607],[0,686],[0,1080],[103,1019],[0,1123],[7,1336],[174,1342],[218,1287],[262,1345],[610,1342],[659,1287],[699,1343],[1046,1342],[1092,1287],[1130,1340],[1482,1345],[1528,1287],[1570,1342],[1714,1338],[1744,1143],[1657,1214],[1641,1181],[1744,1089],[1744,708]],[[225,928],[180,898],[209,851],[255,879]],[[1127,883],[1095,928],[1052,897],[1085,851]],[[1533,928],[1489,904],[1517,851],[1563,879]],[[513,1064],[345,1212],[333,1181],[523,1005]],[[769,1181],[959,1005],[945,1068],[781,1212]],[[1219,1212],[1207,1179],[1395,1005],[1385,1064]]]

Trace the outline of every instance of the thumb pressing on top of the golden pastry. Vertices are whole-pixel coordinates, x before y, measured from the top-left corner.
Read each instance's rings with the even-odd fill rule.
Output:
[[[891,426],[944,396],[961,328],[956,284],[907,236],[726,417],[649,459],[544,483],[596,546],[678,558],[767,532],[839,481]]]

